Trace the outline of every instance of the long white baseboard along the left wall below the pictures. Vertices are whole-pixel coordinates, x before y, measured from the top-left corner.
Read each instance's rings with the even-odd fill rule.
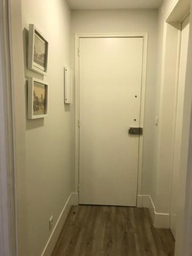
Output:
[[[41,256],[51,256],[54,246],[57,243],[57,240],[58,240],[61,230],[63,228],[63,225],[67,219],[67,215],[69,214],[71,206],[77,205],[77,204],[78,204],[78,193],[71,193],[69,198],[67,199],[65,206],[63,207],[63,209],[61,211],[61,214],[57,220],[57,223],[55,224],[55,226],[53,228],[53,231],[50,235],[49,240],[47,241],[47,244],[45,245],[45,248],[44,248]]]

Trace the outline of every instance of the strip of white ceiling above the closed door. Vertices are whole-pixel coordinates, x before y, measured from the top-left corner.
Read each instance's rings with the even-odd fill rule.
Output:
[[[162,0],[68,0],[71,9],[156,9]]]

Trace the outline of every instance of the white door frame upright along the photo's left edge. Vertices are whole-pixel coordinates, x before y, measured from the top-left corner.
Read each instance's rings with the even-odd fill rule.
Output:
[[[0,255],[17,255],[10,3],[0,3]]]

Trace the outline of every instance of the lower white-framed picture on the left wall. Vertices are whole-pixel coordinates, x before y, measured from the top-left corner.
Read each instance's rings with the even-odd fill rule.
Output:
[[[48,84],[34,77],[28,78],[28,118],[47,116]]]

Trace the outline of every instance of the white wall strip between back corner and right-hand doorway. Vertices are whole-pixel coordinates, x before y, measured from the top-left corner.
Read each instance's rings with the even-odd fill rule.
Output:
[[[156,211],[167,214],[170,214],[171,202],[174,109],[177,90],[175,81],[169,80],[170,72],[174,70],[169,69],[169,66],[177,65],[177,58],[170,54],[169,49],[174,47],[177,50],[179,42],[171,45],[169,38],[166,38],[167,29],[169,29],[169,34],[174,37],[178,33],[176,28],[167,26],[166,18],[176,2],[175,0],[164,1],[158,11],[157,101],[155,112],[159,116],[159,125],[155,136],[153,198]],[[170,65],[165,66],[165,63]]]

